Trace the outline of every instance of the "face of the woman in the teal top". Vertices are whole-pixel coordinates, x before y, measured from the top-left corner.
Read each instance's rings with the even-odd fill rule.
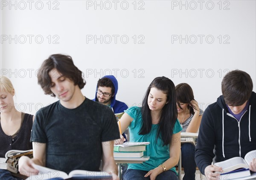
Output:
[[[152,87],[148,94],[148,107],[151,111],[161,111],[163,106],[166,105],[167,94],[164,94],[163,91]]]

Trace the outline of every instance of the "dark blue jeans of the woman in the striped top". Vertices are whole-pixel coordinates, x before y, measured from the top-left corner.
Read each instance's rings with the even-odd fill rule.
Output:
[[[181,145],[181,165],[185,175],[183,180],[195,180],[195,146],[191,143]]]

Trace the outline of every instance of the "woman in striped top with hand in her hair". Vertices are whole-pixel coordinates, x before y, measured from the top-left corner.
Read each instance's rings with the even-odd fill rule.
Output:
[[[196,133],[204,111],[199,109],[192,88],[187,83],[180,83],[175,89],[178,120],[183,129],[181,132]],[[183,180],[195,180],[195,146],[192,143],[181,145],[181,163],[185,172]]]

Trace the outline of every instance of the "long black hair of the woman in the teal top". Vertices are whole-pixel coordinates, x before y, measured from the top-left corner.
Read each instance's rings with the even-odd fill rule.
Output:
[[[157,137],[163,140],[163,146],[169,145],[172,140],[173,127],[177,120],[177,108],[175,97],[175,86],[172,80],[167,77],[156,77],[148,86],[148,89],[143,97],[142,103],[142,119],[143,123],[140,129],[140,134],[148,134],[152,127],[151,111],[148,107],[148,95],[151,88],[157,88],[167,95],[167,104],[163,106],[162,114],[159,120],[159,129]]]

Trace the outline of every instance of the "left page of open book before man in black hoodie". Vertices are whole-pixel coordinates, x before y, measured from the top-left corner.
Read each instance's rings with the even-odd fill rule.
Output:
[[[214,163],[215,166],[222,167],[222,170],[225,171],[233,171],[239,168],[248,169],[249,166],[245,162],[245,160],[241,157],[233,157],[229,160],[225,160],[222,162]]]

